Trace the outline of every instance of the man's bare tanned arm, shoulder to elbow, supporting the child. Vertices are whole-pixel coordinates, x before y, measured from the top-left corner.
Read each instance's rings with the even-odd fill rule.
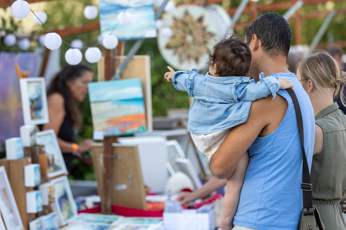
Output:
[[[275,100],[266,97],[254,101],[247,121],[233,127],[213,154],[210,169],[214,177],[218,179],[231,177],[244,152],[259,135],[266,136],[280,125],[287,108],[286,99],[280,95]]]

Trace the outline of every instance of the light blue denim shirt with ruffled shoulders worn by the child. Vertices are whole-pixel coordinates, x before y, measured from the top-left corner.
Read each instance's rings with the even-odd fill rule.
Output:
[[[280,89],[275,77],[260,74],[260,81],[248,77],[214,77],[176,71],[173,85],[193,97],[189,111],[188,131],[203,135],[228,129],[247,120],[251,103],[273,95]]]

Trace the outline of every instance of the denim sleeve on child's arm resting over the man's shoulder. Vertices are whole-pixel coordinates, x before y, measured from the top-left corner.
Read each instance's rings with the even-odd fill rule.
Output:
[[[273,95],[273,99],[276,97],[277,90],[280,89],[279,81],[268,76],[264,78],[264,74],[260,74],[260,81],[243,82],[241,79],[233,85],[233,98],[237,102],[240,101],[255,101],[260,98]]]

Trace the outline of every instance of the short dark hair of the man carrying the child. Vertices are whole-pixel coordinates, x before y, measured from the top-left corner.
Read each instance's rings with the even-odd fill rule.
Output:
[[[246,42],[250,44],[256,34],[264,52],[273,56],[287,56],[291,46],[292,29],[286,19],[277,13],[265,13],[251,23],[246,32]]]

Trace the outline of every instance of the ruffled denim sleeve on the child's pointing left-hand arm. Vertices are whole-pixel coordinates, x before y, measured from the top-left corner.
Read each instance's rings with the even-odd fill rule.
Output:
[[[173,86],[177,90],[183,90],[193,97],[194,78],[199,75],[197,69],[192,69],[189,73],[186,71],[176,71],[173,76]]]

